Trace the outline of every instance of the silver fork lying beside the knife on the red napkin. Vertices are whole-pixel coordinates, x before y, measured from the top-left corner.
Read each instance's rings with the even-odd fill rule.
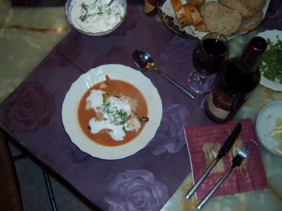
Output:
[[[204,204],[207,203],[207,200],[209,200],[209,198],[211,198],[212,194],[214,194],[214,192],[217,190],[217,188],[219,188],[219,186],[223,183],[224,179],[226,179],[226,177],[228,177],[228,175],[231,173],[231,171],[235,167],[239,167],[241,165],[241,163],[247,158],[247,155],[250,154],[250,152],[255,148],[255,146],[257,146],[257,143],[255,141],[253,141],[252,139],[250,139],[250,141],[248,141],[245,144],[245,146],[243,146],[243,148],[240,150],[240,152],[233,158],[231,168],[226,172],[226,174],[224,174],[224,176],[221,178],[221,180],[219,180],[217,182],[217,184],[214,186],[214,188],[212,188],[212,190],[209,191],[207,196],[197,206],[198,210],[201,210],[201,208],[204,206]]]

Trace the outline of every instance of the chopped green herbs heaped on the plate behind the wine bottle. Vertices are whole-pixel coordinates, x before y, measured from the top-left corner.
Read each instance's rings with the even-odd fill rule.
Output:
[[[276,37],[276,44],[267,39],[268,46],[258,66],[264,77],[282,84],[282,42]]]

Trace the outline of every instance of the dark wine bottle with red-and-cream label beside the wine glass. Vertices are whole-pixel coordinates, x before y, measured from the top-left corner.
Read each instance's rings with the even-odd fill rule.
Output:
[[[207,116],[214,122],[230,121],[260,81],[257,63],[266,49],[266,40],[254,37],[241,57],[228,60],[216,77],[205,103]]]

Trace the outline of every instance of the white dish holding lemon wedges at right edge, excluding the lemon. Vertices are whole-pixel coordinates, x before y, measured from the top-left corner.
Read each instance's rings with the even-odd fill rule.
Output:
[[[267,104],[262,108],[257,115],[257,122],[255,127],[255,132],[257,135],[257,139],[262,147],[273,155],[277,155],[278,157],[282,157],[274,151],[274,148],[278,146],[280,142],[272,139],[269,134],[274,131],[276,119],[282,119],[282,101],[274,101],[272,103]]]

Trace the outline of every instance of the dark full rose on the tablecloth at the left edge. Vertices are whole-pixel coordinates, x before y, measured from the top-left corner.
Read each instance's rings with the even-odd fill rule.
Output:
[[[39,82],[24,82],[1,105],[0,121],[15,134],[37,132],[56,112],[54,101]]]

